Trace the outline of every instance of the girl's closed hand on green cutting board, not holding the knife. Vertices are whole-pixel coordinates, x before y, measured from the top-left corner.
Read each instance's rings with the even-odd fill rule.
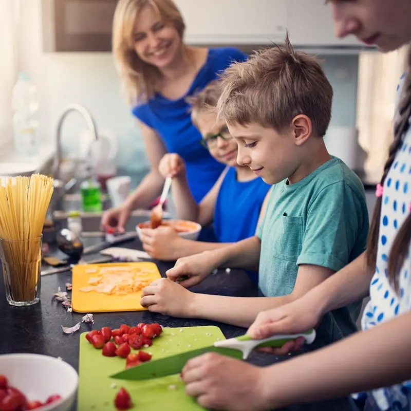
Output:
[[[207,409],[269,409],[264,368],[209,352],[188,361],[181,372],[185,392]]]

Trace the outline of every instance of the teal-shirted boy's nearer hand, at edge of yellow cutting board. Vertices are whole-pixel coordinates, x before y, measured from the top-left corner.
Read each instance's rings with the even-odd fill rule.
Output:
[[[140,304],[148,311],[174,317],[190,316],[194,293],[168,278],[159,278],[141,291]]]

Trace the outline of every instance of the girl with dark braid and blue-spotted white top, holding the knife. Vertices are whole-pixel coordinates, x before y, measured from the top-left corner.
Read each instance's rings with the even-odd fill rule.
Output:
[[[410,0],[327,3],[339,37],[354,34],[383,52],[411,43]],[[325,313],[369,295],[362,331],[264,368],[215,353],[190,360],[182,378],[202,406],[262,410],[350,395],[355,410],[411,410],[411,51],[407,64],[367,250],[298,300],[260,312],[248,334],[303,332]],[[302,344],[298,339],[272,351]]]

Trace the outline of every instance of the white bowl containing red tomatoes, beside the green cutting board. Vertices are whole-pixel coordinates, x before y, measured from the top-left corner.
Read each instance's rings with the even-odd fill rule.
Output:
[[[62,398],[39,411],[68,411],[76,397],[79,376],[77,371],[63,360],[39,354],[0,355],[0,374],[28,400],[46,401],[50,395]]]

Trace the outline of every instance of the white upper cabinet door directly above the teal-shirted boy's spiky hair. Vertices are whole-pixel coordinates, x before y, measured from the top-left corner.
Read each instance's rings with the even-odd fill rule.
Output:
[[[271,44],[286,34],[289,0],[174,1],[189,44]]]

